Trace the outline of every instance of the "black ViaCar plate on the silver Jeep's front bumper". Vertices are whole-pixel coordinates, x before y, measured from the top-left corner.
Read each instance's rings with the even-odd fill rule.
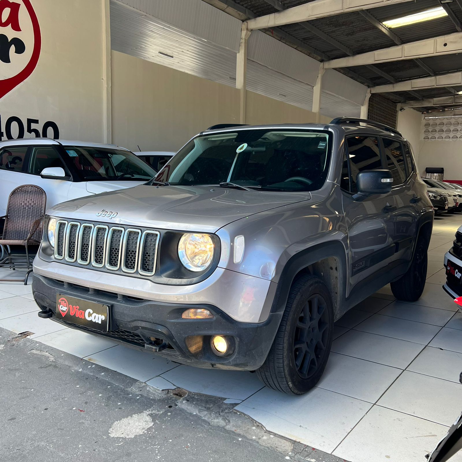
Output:
[[[78,326],[109,331],[110,306],[70,295],[56,294],[56,318]]]

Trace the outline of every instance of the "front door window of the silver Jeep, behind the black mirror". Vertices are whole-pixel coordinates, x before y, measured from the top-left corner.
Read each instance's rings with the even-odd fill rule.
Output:
[[[351,136],[347,138],[348,156],[351,169],[351,192],[358,192],[356,176],[363,170],[381,169],[382,159],[378,139],[371,136]]]

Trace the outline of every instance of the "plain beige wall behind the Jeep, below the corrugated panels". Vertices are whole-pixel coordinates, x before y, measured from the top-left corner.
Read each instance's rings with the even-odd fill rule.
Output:
[[[128,149],[176,151],[211,125],[239,120],[239,91],[231,86],[117,51],[111,74],[112,140]],[[247,92],[250,124],[314,121],[310,111]]]

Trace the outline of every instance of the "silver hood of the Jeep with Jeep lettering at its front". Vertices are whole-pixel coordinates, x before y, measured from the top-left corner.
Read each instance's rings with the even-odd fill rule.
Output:
[[[215,232],[254,213],[310,199],[309,192],[141,185],[64,202],[51,207],[48,214],[149,228]]]

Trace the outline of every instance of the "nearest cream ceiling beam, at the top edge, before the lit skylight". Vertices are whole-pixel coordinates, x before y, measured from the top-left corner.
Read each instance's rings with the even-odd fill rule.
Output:
[[[287,10],[249,19],[249,30],[265,29],[284,24],[294,24],[312,19],[335,16],[337,14],[377,8],[378,6],[395,5],[413,0],[313,0],[304,5],[293,6]]]

